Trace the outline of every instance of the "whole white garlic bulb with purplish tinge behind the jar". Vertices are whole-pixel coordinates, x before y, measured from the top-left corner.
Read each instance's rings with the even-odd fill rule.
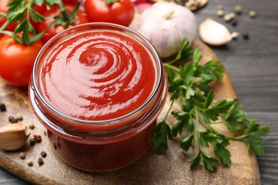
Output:
[[[162,58],[177,53],[185,38],[191,43],[196,31],[196,17],[189,9],[165,1],[145,10],[138,25],[138,32],[153,44]]]

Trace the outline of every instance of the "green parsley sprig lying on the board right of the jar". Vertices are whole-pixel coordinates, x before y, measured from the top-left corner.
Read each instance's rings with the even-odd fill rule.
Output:
[[[180,148],[185,152],[190,148],[197,151],[190,160],[190,168],[195,169],[202,162],[208,171],[216,171],[217,162],[230,166],[231,154],[227,149],[230,140],[246,142],[250,155],[264,155],[262,137],[269,134],[269,127],[260,127],[257,120],[248,118],[237,99],[215,101],[210,83],[215,78],[222,80],[225,68],[219,60],[210,60],[200,65],[200,51],[188,45],[186,40],[177,57],[163,64],[168,73],[171,103],[165,119],[155,129],[155,151],[165,151],[168,149],[168,140],[182,137],[179,140]],[[185,59],[190,61],[178,67],[174,65]],[[179,102],[180,110],[171,112],[175,101]],[[170,114],[176,120],[172,127],[168,123]],[[215,124],[224,124],[233,137],[218,132],[213,127]],[[183,132],[187,133],[185,137]],[[206,148],[213,148],[214,154],[205,152]]]

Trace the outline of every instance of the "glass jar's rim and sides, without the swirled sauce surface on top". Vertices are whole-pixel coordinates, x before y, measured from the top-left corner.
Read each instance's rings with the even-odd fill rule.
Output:
[[[132,112],[108,120],[87,120],[61,112],[43,95],[39,84],[40,70],[46,56],[66,38],[83,31],[118,31],[142,44],[155,65],[155,84],[148,99]],[[62,51],[61,51],[62,52]],[[50,54],[51,55],[51,54]],[[126,166],[150,147],[156,119],[168,92],[163,65],[155,48],[136,31],[112,23],[87,23],[67,29],[53,37],[41,49],[34,63],[29,85],[31,107],[41,124],[48,130],[53,152],[64,162],[78,169],[108,171]],[[71,93],[71,92],[63,92]]]

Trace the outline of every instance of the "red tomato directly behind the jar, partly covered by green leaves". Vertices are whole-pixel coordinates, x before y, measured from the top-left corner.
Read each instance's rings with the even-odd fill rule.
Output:
[[[75,8],[75,6],[72,4],[64,4],[64,6],[68,13],[73,11],[73,9]],[[48,11],[46,11],[45,14],[43,14],[44,17],[54,17],[54,16],[60,16],[60,15],[61,15],[61,9],[60,9],[60,6],[58,6],[58,5],[53,5],[51,7],[51,9],[49,9]],[[76,18],[78,18],[78,17],[80,17],[78,19],[78,21],[76,21],[75,23],[72,23],[70,26],[76,26],[81,23],[88,23],[88,18],[83,11],[78,10],[78,12],[76,14]],[[38,23],[38,32],[44,31],[46,29],[46,33],[44,34],[43,38],[41,39],[43,41],[43,43],[46,43],[49,39],[51,39],[57,33],[66,29],[63,26],[57,26],[57,25],[50,27],[49,25],[53,21],[54,21],[54,18],[48,18],[48,19],[46,19],[46,21]]]

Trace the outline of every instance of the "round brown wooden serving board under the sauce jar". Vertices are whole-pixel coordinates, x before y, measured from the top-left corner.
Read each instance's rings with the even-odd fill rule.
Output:
[[[202,63],[216,58],[201,41],[195,40],[193,46],[200,48]],[[213,89],[218,99],[236,97],[227,75],[222,81],[215,82]],[[189,161],[194,151],[185,154],[176,141],[170,142],[170,149],[165,154],[158,155],[149,149],[143,157],[123,169],[108,172],[81,171],[65,164],[53,154],[53,146],[43,133],[45,129],[31,110],[26,88],[8,85],[0,79],[0,102],[7,107],[6,112],[0,112],[0,126],[10,124],[9,115],[21,113],[24,124],[34,122],[35,128],[30,129],[31,134],[41,134],[42,142],[34,147],[27,143],[14,152],[0,150],[0,166],[34,184],[260,184],[257,159],[249,157],[247,145],[243,142],[231,142],[228,149],[232,155],[232,165],[227,168],[219,164],[215,173],[203,167],[190,170]],[[160,117],[164,117],[169,104],[166,102]],[[223,125],[216,129],[227,132]],[[41,151],[45,151],[47,157],[43,159],[44,164],[38,166]],[[25,152],[26,159],[20,159],[19,152]],[[34,166],[28,166],[27,159],[32,159]]]

